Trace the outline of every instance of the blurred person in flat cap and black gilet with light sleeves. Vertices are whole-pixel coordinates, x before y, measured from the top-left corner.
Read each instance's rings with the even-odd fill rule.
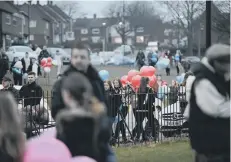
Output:
[[[230,161],[230,46],[215,44],[193,69],[185,116],[196,162]]]

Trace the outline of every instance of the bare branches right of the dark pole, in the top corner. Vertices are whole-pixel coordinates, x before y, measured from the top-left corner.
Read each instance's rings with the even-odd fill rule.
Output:
[[[230,1],[216,1],[214,5],[218,8],[212,15],[212,28],[223,35],[230,37]]]

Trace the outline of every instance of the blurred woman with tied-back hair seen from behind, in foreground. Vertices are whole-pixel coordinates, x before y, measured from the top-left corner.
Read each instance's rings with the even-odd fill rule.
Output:
[[[115,160],[111,159],[108,154],[111,125],[106,115],[106,108],[104,103],[94,97],[93,87],[88,79],[80,73],[70,74],[63,80],[61,93],[65,109],[61,110],[60,113],[65,110],[83,110],[86,113],[81,112],[81,114],[86,115],[86,123],[80,117],[73,117],[75,119],[73,119],[73,124],[70,127],[67,125],[66,127],[65,125],[62,126],[63,131],[60,134],[58,132],[58,139],[68,146],[72,156],[84,155],[99,162],[114,162]],[[94,118],[95,122],[90,118]],[[59,121],[59,117],[55,119]],[[71,121],[70,118],[69,121]],[[96,123],[98,123],[98,128],[95,130],[94,125]],[[57,127],[57,131],[59,131],[58,129],[59,127]],[[95,140],[89,140],[90,138],[95,139],[97,143]]]

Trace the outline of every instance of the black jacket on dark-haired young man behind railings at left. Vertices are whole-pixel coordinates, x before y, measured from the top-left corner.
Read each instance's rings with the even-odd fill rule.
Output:
[[[20,98],[24,98],[24,107],[28,105],[35,106],[40,104],[43,95],[43,90],[38,84],[34,82],[22,86],[22,88],[19,91],[19,94]]]

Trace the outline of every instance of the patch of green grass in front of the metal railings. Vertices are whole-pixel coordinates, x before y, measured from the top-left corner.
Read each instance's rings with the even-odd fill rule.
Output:
[[[150,146],[115,148],[119,162],[193,162],[188,142],[167,142]]]

